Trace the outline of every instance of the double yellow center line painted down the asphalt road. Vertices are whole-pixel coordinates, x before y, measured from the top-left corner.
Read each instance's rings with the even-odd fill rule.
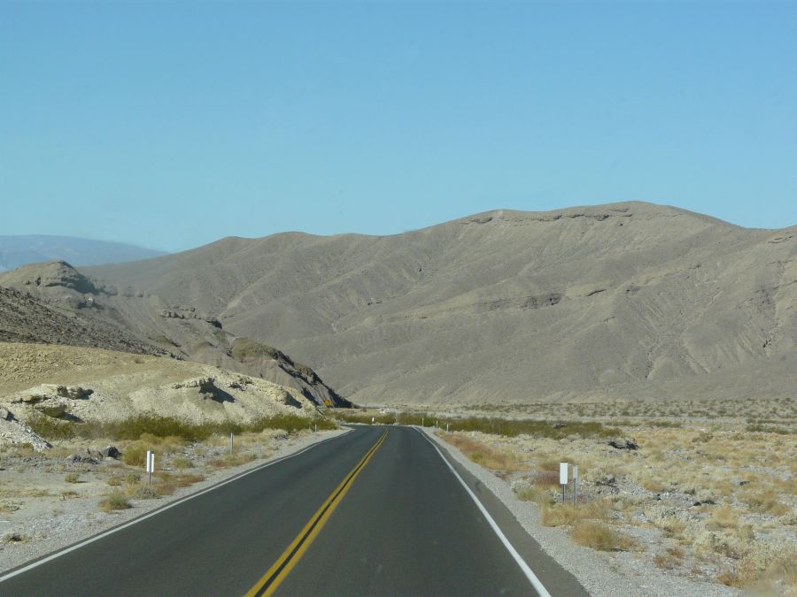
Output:
[[[362,457],[357,466],[355,466],[346,478],[341,481],[340,485],[335,488],[335,491],[329,495],[329,497],[321,504],[321,508],[313,514],[313,517],[305,524],[305,528],[299,532],[297,538],[293,540],[290,545],[282,552],[277,561],[274,565],[268,569],[266,574],[259,579],[255,586],[252,586],[248,593],[246,593],[246,597],[260,597],[261,595],[271,595],[273,594],[277,587],[280,586],[282,581],[285,577],[290,574],[290,570],[293,570],[293,567],[296,563],[301,559],[302,555],[305,555],[307,547],[310,547],[310,544],[315,539],[316,535],[321,532],[321,528],[324,524],[327,523],[329,517],[332,516],[332,512],[337,508],[337,504],[343,500],[344,495],[346,492],[349,491],[349,488],[352,486],[354,479],[357,478],[357,475],[360,474],[365,468],[365,465],[368,464],[368,461],[371,459],[382,446],[384,439],[387,437],[387,430],[383,432],[382,437],[376,441],[376,443],[371,447],[371,449],[366,452],[366,455]]]

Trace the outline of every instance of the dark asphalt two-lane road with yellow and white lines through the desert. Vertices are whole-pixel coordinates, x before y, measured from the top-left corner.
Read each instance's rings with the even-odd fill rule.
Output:
[[[460,475],[554,596],[586,594]],[[358,426],[0,582],[3,595],[535,595],[420,432]]]

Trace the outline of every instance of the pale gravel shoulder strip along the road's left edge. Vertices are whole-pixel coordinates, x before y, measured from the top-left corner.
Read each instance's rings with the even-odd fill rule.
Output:
[[[0,513],[0,535],[19,533],[24,540],[0,542],[0,573],[3,573],[31,560],[58,551],[78,541],[88,539],[98,532],[107,531],[118,524],[126,523],[167,503],[213,486],[227,478],[261,466],[282,456],[290,455],[318,441],[327,440],[348,432],[347,429],[323,431],[313,434],[292,436],[285,444],[268,458],[251,461],[237,467],[221,469],[208,474],[204,481],[190,487],[178,489],[172,495],[157,500],[132,500],[132,509],[116,510],[109,513],[97,507],[97,499],[69,499],[58,501],[57,506],[31,512],[16,524],[4,520]],[[87,475],[88,476],[88,475]]]

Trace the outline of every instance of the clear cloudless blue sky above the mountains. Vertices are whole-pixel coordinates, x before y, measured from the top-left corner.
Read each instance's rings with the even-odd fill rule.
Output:
[[[0,234],[797,224],[797,3],[0,0]]]

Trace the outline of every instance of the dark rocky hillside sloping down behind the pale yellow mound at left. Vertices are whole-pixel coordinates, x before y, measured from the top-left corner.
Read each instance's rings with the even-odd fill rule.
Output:
[[[195,307],[97,286],[63,261],[0,273],[0,341],[111,348],[212,364],[290,387],[320,406],[347,406],[306,365],[225,332]]]

